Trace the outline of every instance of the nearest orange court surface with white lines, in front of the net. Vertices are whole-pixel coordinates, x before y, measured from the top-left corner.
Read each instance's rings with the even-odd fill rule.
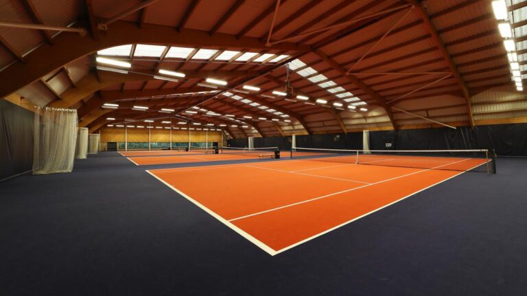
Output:
[[[441,158],[441,166],[463,162]],[[317,160],[148,172],[271,255],[462,173]]]

